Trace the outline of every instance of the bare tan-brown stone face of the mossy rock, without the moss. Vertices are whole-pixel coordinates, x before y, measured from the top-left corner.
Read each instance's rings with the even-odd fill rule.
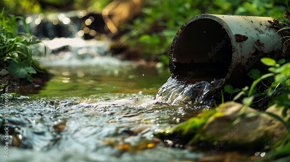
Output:
[[[212,115],[202,127],[202,135],[213,139],[228,139],[231,143],[265,143],[271,139],[282,137],[287,128],[278,119],[258,113],[253,108],[241,109],[244,105],[236,102],[226,102],[217,108],[217,113]],[[240,122],[227,127],[231,121],[241,118]],[[278,137],[278,138],[277,138]],[[262,144],[261,143],[261,144]]]

